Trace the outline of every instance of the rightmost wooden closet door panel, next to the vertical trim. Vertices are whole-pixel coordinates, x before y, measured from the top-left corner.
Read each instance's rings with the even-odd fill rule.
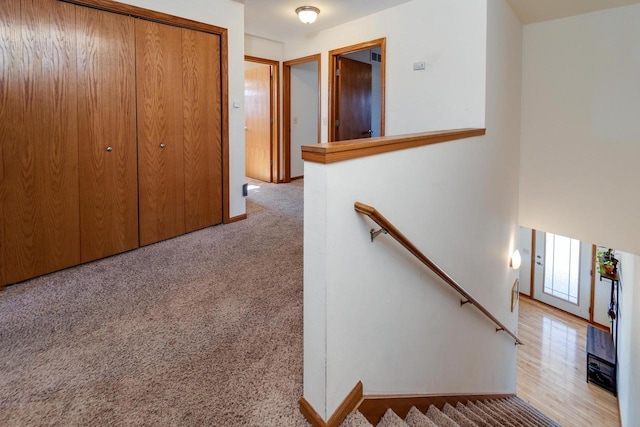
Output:
[[[182,30],[186,231],[222,222],[220,36]]]

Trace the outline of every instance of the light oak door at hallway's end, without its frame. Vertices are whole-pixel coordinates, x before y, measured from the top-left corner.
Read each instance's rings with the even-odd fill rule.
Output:
[[[245,175],[271,182],[271,67],[245,70]]]

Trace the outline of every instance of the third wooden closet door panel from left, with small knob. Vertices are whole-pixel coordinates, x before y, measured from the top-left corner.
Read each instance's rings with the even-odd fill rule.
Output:
[[[136,20],[140,245],[185,232],[181,32]]]

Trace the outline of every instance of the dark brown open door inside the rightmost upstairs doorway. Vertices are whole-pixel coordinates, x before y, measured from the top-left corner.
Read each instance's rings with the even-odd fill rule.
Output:
[[[339,58],[336,141],[371,136],[371,64]]]

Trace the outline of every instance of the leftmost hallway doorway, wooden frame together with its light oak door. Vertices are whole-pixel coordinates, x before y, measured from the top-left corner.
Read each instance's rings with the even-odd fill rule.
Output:
[[[245,175],[278,182],[279,62],[245,56]]]

